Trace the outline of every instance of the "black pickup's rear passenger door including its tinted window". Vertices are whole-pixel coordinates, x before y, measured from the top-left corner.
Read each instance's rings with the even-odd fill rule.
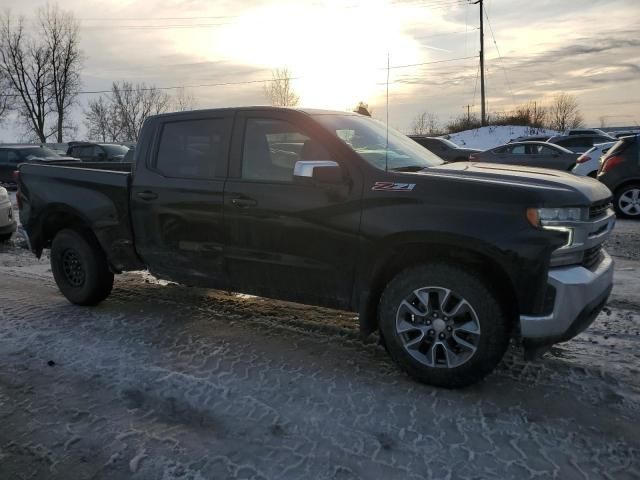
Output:
[[[227,288],[223,189],[233,114],[160,117],[140,151],[131,204],[136,248],[150,270],[191,285]]]

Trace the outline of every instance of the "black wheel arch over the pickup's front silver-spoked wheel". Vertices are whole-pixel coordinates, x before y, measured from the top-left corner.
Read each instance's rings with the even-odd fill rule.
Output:
[[[511,276],[490,253],[491,247],[474,243],[470,245],[466,239],[448,238],[446,241],[401,242],[388,248],[387,253],[369,270],[370,280],[362,285],[358,302],[361,333],[368,335],[377,330],[378,304],[386,285],[406,268],[425,263],[449,263],[474,271],[497,287],[501,303],[506,308],[505,314],[515,321],[520,308]]]

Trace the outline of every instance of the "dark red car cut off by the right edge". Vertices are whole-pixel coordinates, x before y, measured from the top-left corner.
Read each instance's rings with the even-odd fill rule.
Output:
[[[640,219],[640,136],[622,137],[602,159],[598,180],[613,192],[620,217]]]

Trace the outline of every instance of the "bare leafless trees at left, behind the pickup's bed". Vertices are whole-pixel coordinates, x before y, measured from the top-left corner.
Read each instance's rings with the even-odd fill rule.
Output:
[[[0,121],[13,112],[29,141],[62,143],[76,135],[71,110],[78,105],[83,61],[72,12],[47,4],[33,21],[0,14]],[[184,88],[169,95],[154,85],[122,81],[90,100],[83,113],[89,138],[136,141],[147,116],[195,106]]]

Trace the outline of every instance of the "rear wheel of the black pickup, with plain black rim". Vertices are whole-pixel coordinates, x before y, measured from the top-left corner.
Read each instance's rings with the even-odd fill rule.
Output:
[[[51,270],[62,294],[76,305],[97,305],[113,288],[104,251],[89,233],[58,232],[51,244]]]

